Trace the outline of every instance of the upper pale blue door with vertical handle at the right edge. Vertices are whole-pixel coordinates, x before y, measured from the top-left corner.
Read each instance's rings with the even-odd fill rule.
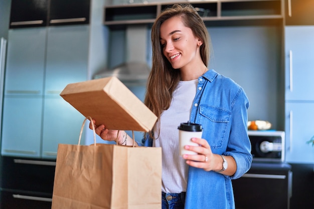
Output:
[[[314,26],[285,27],[285,100],[314,100]]]

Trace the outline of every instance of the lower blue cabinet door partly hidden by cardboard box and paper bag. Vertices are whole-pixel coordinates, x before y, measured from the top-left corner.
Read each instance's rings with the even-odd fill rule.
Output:
[[[60,96],[45,99],[43,157],[56,158],[58,144],[77,144],[84,116]],[[88,122],[86,122],[88,124]],[[84,144],[84,133],[81,139]]]

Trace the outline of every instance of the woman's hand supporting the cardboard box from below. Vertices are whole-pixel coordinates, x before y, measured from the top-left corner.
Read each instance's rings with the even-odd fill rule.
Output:
[[[93,120],[93,123],[95,124],[96,121],[94,119],[92,119],[92,120]],[[103,125],[103,124],[101,124],[99,126],[95,125],[94,127],[95,127],[96,134],[98,136],[100,136],[100,138],[102,138],[103,140],[116,141],[118,130],[109,130],[109,129],[105,128],[105,125]],[[89,123],[89,128],[93,130],[92,122]],[[123,133],[125,134],[124,131],[119,132],[118,144],[122,143]]]

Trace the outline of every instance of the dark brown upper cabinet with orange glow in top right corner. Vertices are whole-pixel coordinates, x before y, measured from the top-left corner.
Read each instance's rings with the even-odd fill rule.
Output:
[[[314,25],[314,1],[285,0],[285,25]]]

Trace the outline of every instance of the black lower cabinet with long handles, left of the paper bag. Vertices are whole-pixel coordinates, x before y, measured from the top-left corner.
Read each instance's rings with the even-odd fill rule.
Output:
[[[55,164],[55,160],[2,157],[0,208],[51,208]]]

